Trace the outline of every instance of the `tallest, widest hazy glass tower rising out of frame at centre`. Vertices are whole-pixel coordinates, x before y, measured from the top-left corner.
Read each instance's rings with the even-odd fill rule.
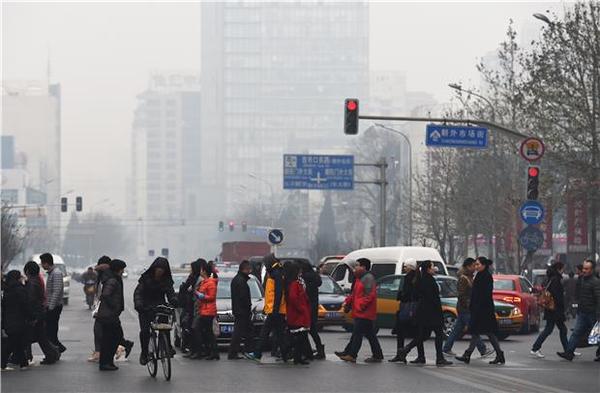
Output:
[[[368,70],[366,2],[202,3],[202,179],[214,221],[234,214],[240,186],[246,199],[281,193],[284,153],[346,146],[344,98],[367,97]]]

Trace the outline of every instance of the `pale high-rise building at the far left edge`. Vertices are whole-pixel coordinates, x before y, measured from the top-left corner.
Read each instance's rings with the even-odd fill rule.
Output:
[[[60,85],[3,81],[2,200],[20,206],[28,229],[44,230],[48,247],[60,243],[60,146]]]

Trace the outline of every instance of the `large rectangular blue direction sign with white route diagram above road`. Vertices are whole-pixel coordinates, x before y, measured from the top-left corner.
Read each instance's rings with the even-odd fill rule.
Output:
[[[286,190],[354,189],[354,156],[283,155]]]

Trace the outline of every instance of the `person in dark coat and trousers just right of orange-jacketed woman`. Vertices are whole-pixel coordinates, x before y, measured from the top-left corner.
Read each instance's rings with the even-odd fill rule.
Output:
[[[233,336],[229,345],[228,359],[242,359],[238,355],[240,343],[244,340],[244,353],[250,353],[252,348],[252,296],[248,280],[252,266],[248,261],[242,261],[238,273],[231,280],[231,305],[235,322],[233,325]]]

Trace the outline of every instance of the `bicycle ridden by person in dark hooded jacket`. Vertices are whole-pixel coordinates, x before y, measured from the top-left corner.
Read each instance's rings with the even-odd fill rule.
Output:
[[[169,332],[173,329],[175,309],[166,305],[156,306],[154,320],[150,323],[150,342],[148,343],[148,372],[155,378],[160,360],[163,375],[171,380],[171,343]]]

